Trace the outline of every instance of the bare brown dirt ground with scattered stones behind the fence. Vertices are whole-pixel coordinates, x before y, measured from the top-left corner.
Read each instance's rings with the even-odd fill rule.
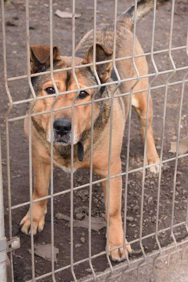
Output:
[[[5,3],[5,18],[6,18],[6,52],[7,52],[7,71],[8,77],[14,77],[26,74],[26,24],[25,24],[25,6],[24,1],[11,1],[11,5]],[[97,24],[113,22],[114,17],[114,1],[97,1]],[[126,3],[125,3],[126,2]],[[8,2],[9,3],[9,2]],[[63,3],[63,4],[62,4]],[[133,5],[131,0],[118,1],[118,14],[125,11],[128,7]],[[71,1],[56,0],[53,4],[53,12],[56,9],[71,11]],[[30,43],[48,45],[49,38],[49,7],[47,0],[33,0],[30,1]],[[76,44],[82,36],[93,27],[93,1],[76,1],[76,12],[81,13],[81,17],[76,19]],[[175,15],[172,47],[179,47],[186,45],[187,25],[188,25],[188,5],[187,0],[175,1]],[[169,31],[170,31],[170,17],[171,17],[171,3],[157,11],[156,28],[155,28],[155,50],[167,49],[169,45]],[[151,46],[151,28],[152,28],[152,14],[146,16],[137,25],[136,34],[145,52],[150,52]],[[62,55],[71,55],[71,39],[72,34],[72,20],[60,19],[54,15],[53,17],[53,41],[54,44],[60,48]],[[2,44],[0,46],[0,60],[1,60],[1,77],[3,77],[3,56]],[[176,68],[188,66],[188,58],[185,49],[172,51],[172,57]],[[153,73],[153,66],[150,56],[147,56],[149,64],[149,73]],[[155,63],[159,71],[172,69],[168,53],[160,53],[155,55]],[[170,82],[182,80],[186,70],[179,70],[171,78]],[[167,75],[159,75],[153,86],[165,84]],[[2,165],[3,165],[3,180],[4,180],[4,207],[5,207],[5,228],[6,237],[9,237],[8,224],[8,195],[7,195],[7,176],[6,176],[6,142],[5,142],[5,125],[4,116],[8,109],[8,98],[4,89],[3,80],[0,80],[1,89],[1,103],[0,103],[0,125],[1,125],[1,142],[2,142]],[[10,93],[13,101],[22,100],[26,98],[28,91],[27,79],[15,80],[9,83]],[[170,142],[177,136],[177,125],[179,115],[179,101],[181,95],[181,84],[169,86],[167,98],[167,112],[165,124],[165,139],[163,160],[174,157],[175,154],[169,152]],[[181,122],[181,137],[188,135],[188,85],[185,84],[184,101],[182,109]],[[153,129],[157,151],[160,154],[160,140],[162,129],[162,116],[164,105],[165,88],[152,90],[153,98]],[[10,117],[17,117],[25,115],[25,104],[17,105],[11,111]],[[127,128],[125,130],[125,137],[122,147],[122,171],[125,171],[126,166],[126,144],[127,144]],[[23,120],[10,122],[9,124],[9,146],[10,146],[10,169],[11,169],[11,204],[16,205],[29,200],[29,161],[28,161],[28,142],[23,132]],[[175,216],[174,224],[182,222],[186,217],[187,209],[187,174],[188,158],[181,158],[178,161],[176,198],[175,198]],[[130,148],[130,163],[129,169],[141,167],[143,164],[143,144],[141,142],[140,128],[137,121],[136,114],[132,114],[131,123],[131,148]],[[175,162],[171,161],[164,165],[161,178],[160,189],[160,221],[159,229],[169,227],[171,225],[172,213],[172,189],[174,178]],[[97,179],[94,175],[93,179]],[[89,170],[78,170],[74,174],[74,187],[89,182]],[[142,173],[131,173],[128,176],[128,203],[127,216],[131,216],[134,222],[127,222],[126,237],[128,241],[139,238],[140,226],[140,199],[141,199],[141,183]],[[123,177],[123,185],[125,185],[125,178]],[[155,232],[155,215],[157,204],[157,185],[158,177],[150,175],[147,172],[145,178],[145,193],[144,193],[144,214],[143,214],[143,236]],[[124,187],[124,186],[123,186]],[[70,174],[66,174],[61,169],[54,169],[54,192],[63,191],[70,188]],[[80,191],[80,190],[79,190]],[[124,191],[124,189],[123,189]],[[92,197],[92,216],[104,216],[103,195],[100,185],[93,187]],[[94,199],[98,199],[94,201]],[[124,205],[124,197],[122,197],[122,206]],[[74,218],[76,215],[75,209],[78,207],[89,206],[89,191],[81,189],[80,192],[74,193]],[[138,209],[135,210],[135,206]],[[31,247],[30,238],[19,231],[19,222],[26,214],[28,206],[14,209],[12,211],[12,232],[13,236],[20,237],[21,248],[16,250],[13,256],[14,264],[14,281],[22,282],[31,279],[31,255],[28,249]],[[122,215],[123,215],[122,207]],[[70,216],[70,194],[64,194],[54,198],[54,215],[61,212],[64,215]],[[87,208],[83,212],[87,214]],[[70,228],[68,221],[63,219],[56,219],[54,217],[54,242],[55,247],[59,249],[57,255],[58,262],[55,264],[55,269],[70,264]],[[50,243],[50,202],[48,203],[48,213],[45,218],[45,228],[43,232],[34,237],[34,243],[45,242]],[[92,231],[92,255],[98,254],[105,249],[105,229],[101,229],[99,233]],[[178,240],[187,236],[185,226],[179,226],[174,229],[175,237]],[[85,237],[85,243],[80,242],[80,237]],[[166,246],[172,242],[170,232],[160,233],[159,241],[161,246]],[[74,246],[75,244],[81,246],[74,248],[74,262],[88,257],[88,231],[83,228],[74,228]],[[150,237],[143,240],[145,252],[150,252],[157,249],[155,237]],[[133,244],[134,250],[139,250],[139,243]],[[133,255],[131,259],[135,259],[139,255]],[[96,271],[104,271],[109,267],[106,256],[99,256],[92,261]],[[115,265],[115,263],[112,263]],[[82,278],[88,274],[87,269],[89,263],[82,263],[74,268],[77,278]],[[40,257],[35,256],[35,275],[40,276],[51,271],[51,263]],[[70,268],[63,272],[58,272],[55,275],[56,281],[69,282],[72,280]],[[51,277],[44,278],[40,281],[52,281]]]

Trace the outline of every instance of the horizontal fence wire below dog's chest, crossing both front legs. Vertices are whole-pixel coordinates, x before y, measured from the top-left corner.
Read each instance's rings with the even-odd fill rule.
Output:
[[[178,156],[178,159],[183,158],[183,157],[187,157],[187,156],[188,156],[188,153],[187,153],[187,154],[184,154],[184,155]],[[167,159],[167,160],[163,160],[163,161],[162,161],[162,164],[165,164],[166,162],[174,161],[175,159],[176,159],[176,157],[173,157],[173,158],[170,158],[170,159]],[[153,167],[153,166],[155,166],[155,165],[157,165],[157,164],[159,164],[159,162],[157,162],[157,163],[155,163],[155,164],[149,164],[149,165],[145,166],[145,169],[147,169],[147,168],[149,168],[149,167]],[[133,173],[133,172],[138,172],[138,171],[140,171],[140,170],[142,170],[142,169],[143,169],[143,167],[139,167],[139,168],[136,168],[136,169],[133,169],[133,170],[129,170],[129,171],[128,171],[128,174]],[[110,178],[113,179],[113,178],[120,177],[120,176],[123,176],[123,175],[126,175],[126,172],[122,172],[122,173],[120,173],[120,174],[113,175],[113,176],[111,176]],[[100,182],[103,182],[103,181],[106,181],[107,179],[108,179],[108,178],[106,177],[106,178],[103,178],[103,179],[99,179],[99,180],[93,181],[93,182],[92,182],[92,185],[97,184],[97,183],[100,183]],[[88,187],[88,186],[89,186],[89,183],[83,184],[83,185],[74,187],[73,190],[75,191],[75,190],[78,190],[78,189],[81,189],[81,188],[85,188],[85,187]],[[67,189],[67,190],[65,190],[65,191],[57,192],[57,193],[53,194],[53,196],[54,196],[54,197],[55,197],[55,196],[60,196],[60,195],[63,195],[63,194],[69,193],[69,192],[70,192],[70,189]],[[50,199],[50,197],[51,197],[51,196],[48,195],[48,196],[45,196],[45,197],[42,197],[42,198],[35,199],[35,200],[33,200],[33,203],[39,202],[39,201],[42,201],[42,200],[45,200],[45,199]],[[30,202],[28,201],[28,202],[25,202],[25,203],[22,203],[22,204],[18,204],[18,205],[12,206],[11,209],[17,209],[17,208],[20,208],[20,207],[27,206],[27,205],[29,205],[29,204],[30,204]],[[7,208],[7,210],[8,210],[8,208]]]

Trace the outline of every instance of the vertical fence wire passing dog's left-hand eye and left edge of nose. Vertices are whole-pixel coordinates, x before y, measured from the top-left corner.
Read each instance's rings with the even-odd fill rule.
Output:
[[[54,273],[54,216],[53,216],[53,107],[59,98],[59,91],[53,75],[53,20],[52,20],[52,0],[49,1],[50,6],[50,76],[55,89],[55,99],[50,107],[50,194],[51,194],[51,247],[52,247],[52,280],[55,280]]]

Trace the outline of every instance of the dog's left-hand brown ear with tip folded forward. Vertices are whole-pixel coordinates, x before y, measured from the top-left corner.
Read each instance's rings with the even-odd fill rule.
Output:
[[[59,49],[53,46],[53,62],[60,60]],[[50,66],[50,46],[33,45],[30,47],[31,73],[37,73],[41,68]]]

